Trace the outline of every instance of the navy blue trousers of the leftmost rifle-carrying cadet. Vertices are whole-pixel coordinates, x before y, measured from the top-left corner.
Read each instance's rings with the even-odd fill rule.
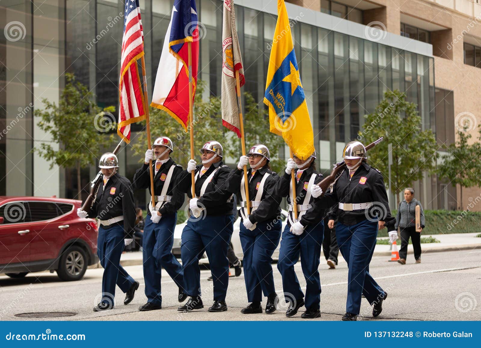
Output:
[[[134,279],[120,266],[120,256],[124,251],[124,226],[114,226],[105,230],[99,227],[97,239],[97,255],[103,267],[102,276],[102,302],[114,304],[115,284],[126,293]]]

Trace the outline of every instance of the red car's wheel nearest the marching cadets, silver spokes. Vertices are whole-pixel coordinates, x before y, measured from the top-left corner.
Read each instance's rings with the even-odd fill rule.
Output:
[[[80,280],[87,271],[87,255],[76,245],[65,250],[60,258],[57,275],[64,281]]]

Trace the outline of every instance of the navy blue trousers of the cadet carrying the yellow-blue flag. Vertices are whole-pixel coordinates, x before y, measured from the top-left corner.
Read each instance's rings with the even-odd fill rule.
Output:
[[[307,226],[300,236],[290,231],[286,225],[280,241],[279,261],[277,268],[282,276],[282,288],[286,302],[304,298],[304,293],[299,285],[294,265],[301,255],[301,267],[306,282],[305,308],[319,309],[321,301],[321,280],[319,267],[322,240],[324,238],[324,222],[316,226]]]

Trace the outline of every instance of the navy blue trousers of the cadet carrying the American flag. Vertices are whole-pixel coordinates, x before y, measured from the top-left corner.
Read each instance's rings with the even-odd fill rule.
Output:
[[[162,267],[177,286],[184,289],[184,271],[172,254],[176,222],[177,213],[162,215],[158,223],[153,223],[150,215],[145,220],[142,257],[147,302],[162,305]]]

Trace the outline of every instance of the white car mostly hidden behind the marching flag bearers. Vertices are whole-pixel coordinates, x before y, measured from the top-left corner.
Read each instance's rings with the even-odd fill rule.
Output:
[[[287,211],[284,209],[281,209],[280,215],[282,219],[281,231],[284,231],[284,228],[286,227],[286,224],[287,224]],[[232,238],[230,239],[230,245],[232,246],[232,249],[234,250],[234,253],[236,254],[236,256],[240,260],[242,260],[244,258],[244,253],[242,252],[241,238],[239,237],[240,224],[241,224],[241,218],[238,217],[234,221],[234,232],[232,233]],[[182,243],[182,231],[184,230],[184,227],[186,225],[187,225],[187,221],[183,223],[179,223],[178,225],[176,225],[176,229],[174,231],[174,245],[172,246],[172,253],[176,258],[180,258],[180,245]],[[274,250],[274,254],[272,255],[272,258],[275,260],[278,260],[279,258],[279,246],[280,246],[280,242],[276,250]],[[205,253],[203,254],[199,262],[204,264],[209,263],[209,260],[207,259],[207,255]]]

